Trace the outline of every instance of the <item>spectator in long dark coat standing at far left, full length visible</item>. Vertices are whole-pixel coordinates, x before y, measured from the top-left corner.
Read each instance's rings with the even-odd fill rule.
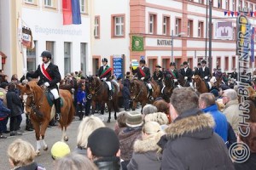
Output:
[[[11,111],[10,123],[9,123],[9,128],[11,131],[10,136],[21,135],[22,133],[17,132],[17,130],[20,127],[19,120],[22,120],[21,114],[23,113],[23,111],[22,111],[22,104],[20,102],[20,97],[15,94],[14,83],[9,84],[8,92],[6,94],[6,100],[7,100],[7,106]]]

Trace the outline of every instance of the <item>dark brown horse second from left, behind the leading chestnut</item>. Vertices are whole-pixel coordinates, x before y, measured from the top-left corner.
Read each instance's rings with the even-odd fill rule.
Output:
[[[108,84],[102,82],[98,77],[92,76],[88,77],[88,89],[89,95],[92,97],[92,114],[96,109],[96,102],[101,104],[101,113],[104,114],[105,103],[108,105],[108,122],[111,119],[111,110],[114,111],[114,119],[117,119],[116,112],[119,111],[118,97],[119,97],[119,87],[115,82],[111,82],[113,87],[113,99],[108,99]]]

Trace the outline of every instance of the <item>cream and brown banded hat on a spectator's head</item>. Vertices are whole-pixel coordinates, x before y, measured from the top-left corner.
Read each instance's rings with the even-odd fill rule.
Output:
[[[130,111],[126,114],[126,125],[128,127],[140,127],[143,125],[143,116],[137,111]]]

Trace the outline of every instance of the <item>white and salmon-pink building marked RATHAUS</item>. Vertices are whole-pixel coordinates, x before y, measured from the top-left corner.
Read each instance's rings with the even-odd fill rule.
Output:
[[[183,61],[189,61],[189,67],[193,68],[208,56],[207,5],[207,0],[96,0],[92,37],[94,64],[99,65],[103,57],[112,61],[114,54],[124,54],[125,71],[129,71],[131,59],[141,58],[146,59],[151,72],[156,64],[168,68],[172,59],[177,68]],[[231,17],[230,13],[241,8],[254,12],[256,2],[212,0],[212,69],[219,67],[230,72],[238,66],[237,17],[235,14]],[[224,15],[224,11],[230,12]],[[254,26],[255,18],[247,18]],[[229,22],[229,34],[233,37],[229,40],[214,38],[216,22]],[[143,51],[132,50],[132,36],[143,37]],[[250,66],[253,68],[254,63]]]

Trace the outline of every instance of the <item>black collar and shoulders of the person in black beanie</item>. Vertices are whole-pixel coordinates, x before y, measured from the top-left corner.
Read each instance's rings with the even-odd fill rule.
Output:
[[[120,169],[120,159],[119,157],[102,157],[94,161],[96,167],[99,170],[119,170]]]

